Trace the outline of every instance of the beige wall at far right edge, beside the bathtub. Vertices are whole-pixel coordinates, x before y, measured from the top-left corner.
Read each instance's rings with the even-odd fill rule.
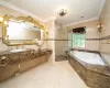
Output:
[[[100,37],[110,35],[110,0],[106,0],[106,4],[100,15],[100,22],[103,25],[100,33]],[[107,62],[110,64],[110,44],[107,43],[107,40],[100,41],[100,52],[102,56],[107,59]]]

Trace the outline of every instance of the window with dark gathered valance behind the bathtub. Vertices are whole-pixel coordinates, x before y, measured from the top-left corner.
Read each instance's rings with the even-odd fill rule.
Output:
[[[73,29],[68,33],[68,48],[84,48],[86,43],[86,28]]]

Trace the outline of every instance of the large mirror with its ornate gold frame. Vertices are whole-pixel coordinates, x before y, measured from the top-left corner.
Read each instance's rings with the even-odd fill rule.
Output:
[[[2,41],[8,46],[36,44],[36,38],[45,42],[44,25],[32,16],[4,15],[2,29]]]

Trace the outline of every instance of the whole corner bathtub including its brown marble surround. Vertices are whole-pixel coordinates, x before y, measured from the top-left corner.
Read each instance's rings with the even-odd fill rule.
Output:
[[[68,63],[90,88],[110,88],[110,72],[98,53],[70,51]]]

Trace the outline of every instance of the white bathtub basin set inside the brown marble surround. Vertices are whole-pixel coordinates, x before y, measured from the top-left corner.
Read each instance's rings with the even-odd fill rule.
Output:
[[[88,63],[88,64],[106,65],[105,62],[99,56],[99,54],[97,54],[97,53],[70,51],[70,55],[73,55],[73,56],[77,57],[79,61]]]

